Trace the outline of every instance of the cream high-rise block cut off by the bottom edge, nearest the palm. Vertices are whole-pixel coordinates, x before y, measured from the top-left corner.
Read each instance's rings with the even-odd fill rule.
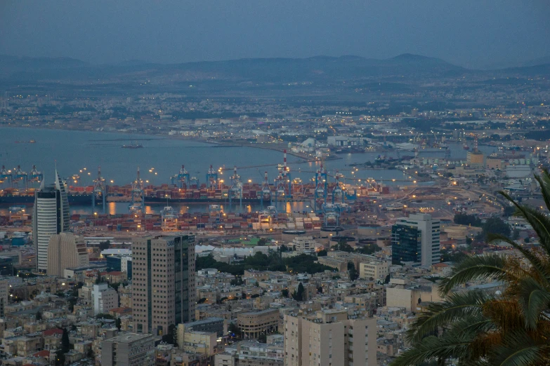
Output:
[[[347,311],[284,316],[284,365],[376,366],[377,321]]]

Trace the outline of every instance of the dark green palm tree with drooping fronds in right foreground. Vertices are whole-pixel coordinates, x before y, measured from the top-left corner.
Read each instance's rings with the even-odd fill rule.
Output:
[[[535,175],[550,210],[550,172]],[[550,365],[550,217],[538,208],[520,205],[499,192],[537,233],[539,248],[526,249],[505,236],[488,239],[507,243],[520,256],[466,257],[443,279],[445,301],[429,304],[419,314],[406,340],[410,348],[392,366]],[[499,281],[502,293],[461,290],[472,280]],[[458,290],[456,290],[458,287]]]

